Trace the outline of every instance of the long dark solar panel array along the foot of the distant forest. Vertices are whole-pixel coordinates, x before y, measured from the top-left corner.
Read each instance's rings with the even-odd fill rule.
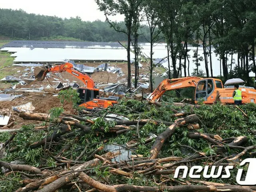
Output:
[[[33,48],[88,48],[90,46],[110,46],[122,47],[118,42],[86,42],[86,41],[33,41],[33,40],[15,40],[4,47],[33,47]]]

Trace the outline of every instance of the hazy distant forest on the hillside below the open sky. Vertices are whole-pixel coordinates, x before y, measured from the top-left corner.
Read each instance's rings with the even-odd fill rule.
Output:
[[[109,42],[125,41],[126,36],[116,32],[108,22],[96,20],[82,21],[80,17],[62,19],[56,16],[28,14],[23,10],[0,9],[0,35],[14,39],[50,40],[51,38],[84,41]],[[124,27],[125,23],[118,23]],[[147,26],[141,28],[144,36],[150,36]],[[140,42],[145,42],[140,36]]]

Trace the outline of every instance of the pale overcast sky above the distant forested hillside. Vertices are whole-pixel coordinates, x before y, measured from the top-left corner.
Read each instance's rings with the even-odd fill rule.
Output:
[[[22,9],[27,13],[70,18],[80,16],[84,21],[105,21],[94,0],[0,0],[0,8]],[[115,16],[112,20],[123,20]]]

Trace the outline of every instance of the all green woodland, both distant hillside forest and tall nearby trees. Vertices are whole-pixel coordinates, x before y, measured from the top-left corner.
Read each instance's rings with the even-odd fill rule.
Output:
[[[213,77],[213,66],[220,67],[223,80],[240,77],[253,86],[250,72],[256,74],[255,36],[256,3],[252,0],[95,0],[106,15],[106,21],[82,21],[81,18],[62,19],[55,16],[27,14],[23,10],[0,9],[0,35],[28,40],[49,40],[54,37],[75,38],[85,41],[126,42],[128,61],[128,87],[131,84],[130,51],[136,55],[135,86],[138,80],[140,46],[138,42],[151,44],[150,84],[153,47],[159,41],[167,43],[169,78],[203,75]],[[123,22],[110,20],[110,16],[124,15]],[[203,47],[189,55],[189,45]],[[212,54],[219,57],[212,62]],[[237,57],[237,63],[231,58]],[[196,69],[188,71],[188,58],[193,58]],[[198,70],[200,61],[205,71]],[[152,87],[151,87],[152,91]]]

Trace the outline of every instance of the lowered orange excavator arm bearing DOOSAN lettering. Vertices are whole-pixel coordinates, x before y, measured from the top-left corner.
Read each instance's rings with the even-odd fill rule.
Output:
[[[169,90],[175,90],[186,87],[196,87],[197,82],[202,78],[200,77],[183,77],[183,78],[174,78],[174,79],[165,79],[163,80],[158,87],[148,96],[149,102],[156,102],[160,97]]]

